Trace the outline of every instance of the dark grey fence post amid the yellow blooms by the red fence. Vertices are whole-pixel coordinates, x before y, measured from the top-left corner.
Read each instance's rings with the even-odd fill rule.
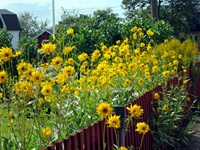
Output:
[[[114,107],[115,114],[120,115],[120,128],[118,129],[118,143],[120,146],[125,146],[125,116],[126,116],[126,107],[125,106],[116,106]]]

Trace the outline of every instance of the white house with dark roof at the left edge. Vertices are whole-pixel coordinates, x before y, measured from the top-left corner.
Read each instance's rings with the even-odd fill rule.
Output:
[[[7,29],[8,33],[13,35],[11,44],[12,47],[16,49],[19,42],[19,33],[21,31],[17,15],[7,9],[0,9],[0,29],[2,28]]]

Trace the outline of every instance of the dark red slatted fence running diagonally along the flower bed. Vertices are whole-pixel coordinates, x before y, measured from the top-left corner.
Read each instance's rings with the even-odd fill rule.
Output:
[[[197,64],[200,67],[200,63]],[[190,70],[187,70],[191,74]],[[178,76],[183,76],[183,72],[180,72]],[[193,95],[200,97],[200,76],[196,78],[195,86],[189,87],[188,92]],[[182,82],[178,80],[178,77],[173,77],[168,80],[168,85],[182,85]],[[170,87],[170,86],[168,86]],[[130,105],[138,104],[144,109],[144,114],[141,119],[134,121],[136,124],[138,121],[149,121],[150,118],[155,116],[153,107],[156,108],[155,100],[153,99],[153,94],[155,92],[162,92],[162,86],[159,85],[154,89],[147,91],[142,96],[133,100],[131,103],[127,104],[125,107]],[[154,101],[154,103],[152,103]],[[126,111],[126,115],[128,112]],[[103,150],[103,138],[105,138],[106,148],[105,150],[112,150],[114,144],[117,144],[117,139],[114,133],[114,129],[105,127],[105,137],[104,137],[104,127],[105,120],[98,121],[89,127],[73,134],[63,140],[57,141],[55,145],[49,145],[46,150]],[[128,132],[125,135],[125,146],[139,147],[142,135],[135,132],[135,125],[130,125]],[[144,136],[144,141],[142,145],[143,150],[152,150],[153,139],[151,133],[148,132]],[[42,149],[45,150],[45,149]]]

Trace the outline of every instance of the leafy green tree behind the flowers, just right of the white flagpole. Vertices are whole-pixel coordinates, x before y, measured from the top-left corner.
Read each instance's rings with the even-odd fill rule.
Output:
[[[120,18],[110,8],[96,10],[92,15],[64,10],[61,18],[60,24],[56,27],[56,34],[62,35],[68,28],[73,28],[74,35],[70,44],[76,45],[78,52],[90,53],[96,49],[95,45],[101,42],[109,46],[121,39]]]

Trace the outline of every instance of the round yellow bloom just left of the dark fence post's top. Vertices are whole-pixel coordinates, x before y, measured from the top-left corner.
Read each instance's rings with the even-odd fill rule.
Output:
[[[101,117],[107,117],[112,114],[113,109],[107,102],[101,102],[96,108],[97,114]]]

